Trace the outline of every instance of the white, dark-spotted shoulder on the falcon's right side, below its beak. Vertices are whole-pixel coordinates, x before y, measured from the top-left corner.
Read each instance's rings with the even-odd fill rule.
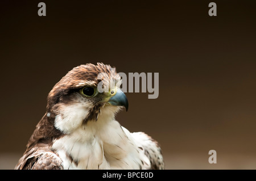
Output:
[[[152,170],[163,170],[164,169],[164,161],[162,150],[157,141],[148,136],[143,132],[135,132],[132,133],[135,140],[138,142],[139,149],[144,151],[144,154],[150,160],[150,169]]]

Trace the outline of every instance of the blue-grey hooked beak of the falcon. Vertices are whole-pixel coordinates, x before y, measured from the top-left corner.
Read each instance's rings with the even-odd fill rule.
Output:
[[[126,111],[128,111],[128,100],[125,93],[123,93],[123,91],[121,91],[120,89],[118,89],[115,95],[109,99],[108,103],[112,104],[113,106],[123,106],[126,108]]]

